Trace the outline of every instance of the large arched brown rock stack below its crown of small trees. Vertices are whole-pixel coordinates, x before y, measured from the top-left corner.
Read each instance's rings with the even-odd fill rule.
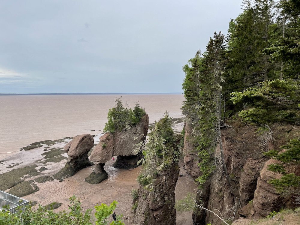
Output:
[[[107,179],[107,173],[104,170],[104,164],[113,156],[117,157],[116,168],[130,169],[137,167],[137,162],[141,159],[141,150],[136,151],[137,146],[144,143],[148,134],[149,117],[146,114],[141,121],[130,129],[104,134],[100,137],[99,144],[91,153],[90,160],[95,162],[96,169],[89,175],[85,182],[98,184]]]

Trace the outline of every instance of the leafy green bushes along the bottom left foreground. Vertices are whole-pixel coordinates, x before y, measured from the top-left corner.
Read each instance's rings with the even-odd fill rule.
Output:
[[[113,201],[110,206],[101,204],[101,206],[95,206],[96,208],[96,225],[104,224],[118,224],[124,225],[121,217],[117,217],[117,221],[109,223],[107,218],[111,216],[111,213],[116,208],[118,202]],[[82,212],[81,203],[75,196],[70,197],[69,212],[61,211],[54,212],[52,209],[47,209],[39,205],[37,210],[32,210],[31,206],[25,208],[18,208],[16,214],[11,214],[8,206],[3,207],[0,211],[0,224],[2,225],[44,225],[44,224],[59,224],[59,225],[92,225],[91,209],[87,209],[85,213]]]

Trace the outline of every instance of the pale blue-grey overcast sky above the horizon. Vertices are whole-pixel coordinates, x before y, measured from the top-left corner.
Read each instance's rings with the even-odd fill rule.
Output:
[[[0,93],[182,92],[241,0],[0,0]]]

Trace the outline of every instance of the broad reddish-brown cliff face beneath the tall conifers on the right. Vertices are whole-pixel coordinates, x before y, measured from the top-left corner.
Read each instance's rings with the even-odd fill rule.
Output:
[[[189,125],[185,126],[186,137],[190,136]],[[199,190],[196,200],[208,209],[219,210],[225,219],[235,220],[239,216],[258,218],[268,215],[270,211],[278,211],[280,207],[291,205],[291,195],[280,195],[276,192],[269,179],[279,178],[280,174],[267,169],[272,159],[262,154],[263,143],[268,143],[269,149],[277,149],[289,139],[300,136],[300,128],[291,125],[274,124],[271,127],[274,140],[256,132],[257,127],[246,126],[240,122],[232,128],[222,130],[224,161],[230,176],[230,185],[226,180],[220,163],[220,149],[215,151],[216,172],[202,190]],[[267,140],[265,142],[265,140]],[[185,162],[190,162],[194,147],[188,143],[185,146]],[[190,147],[189,147],[190,146]],[[192,146],[192,147],[191,147]],[[266,146],[265,146],[266,147]],[[191,159],[191,160],[186,160]],[[195,164],[186,164],[191,175],[197,168]],[[290,173],[300,173],[300,167],[289,168]],[[221,221],[211,213],[196,209],[193,212],[194,224],[220,224]]]

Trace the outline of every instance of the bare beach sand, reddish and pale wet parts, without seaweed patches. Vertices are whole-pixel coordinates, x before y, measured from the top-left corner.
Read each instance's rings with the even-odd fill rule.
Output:
[[[179,121],[175,120],[172,127],[176,133],[181,132],[183,121],[181,119]],[[98,134],[94,137],[95,144],[99,142],[101,135],[102,134]],[[51,145],[50,148],[62,148],[67,141],[69,140]],[[64,167],[67,161],[62,160],[58,163],[47,162],[44,164],[43,161],[41,161],[44,156],[41,156],[41,154],[45,152],[45,147],[47,146],[42,146],[30,151],[20,151],[15,155],[9,156],[0,164],[0,173],[5,173],[24,166],[35,165],[36,169],[42,166],[47,168],[47,170],[41,172],[39,176],[54,175]],[[67,157],[67,154],[65,153],[62,156]],[[33,194],[23,196],[22,198],[32,202],[37,201],[38,204],[43,206],[52,202],[62,203],[59,208],[55,209],[56,211],[67,210],[69,198],[73,195],[81,201],[84,210],[93,208],[95,205],[101,203],[110,204],[113,200],[116,200],[119,202],[116,213],[123,214],[126,224],[126,219],[131,212],[131,191],[138,188],[136,179],[142,168],[137,167],[134,170],[123,170],[112,167],[112,164],[112,160],[105,164],[104,169],[107,171],[109,178],[100,184],[88,184],[84,181],[94,170],[95,166],[91,166],[79,171],[72,177],[64,179],[63,182],[54,180],[43,184],[37,183],[40,190]],[[176,184],[176,201],[181,200],[190,193],[196,196],[197,191],[197,185],[183,169],[183,163],[180,163],[179,166],[180,174],[183,176],[179,176]],[[36,177],[30,177],[25,180],[33,180],[35,178]],[[192,225],[192,212],[177,212],[176,224]]]

